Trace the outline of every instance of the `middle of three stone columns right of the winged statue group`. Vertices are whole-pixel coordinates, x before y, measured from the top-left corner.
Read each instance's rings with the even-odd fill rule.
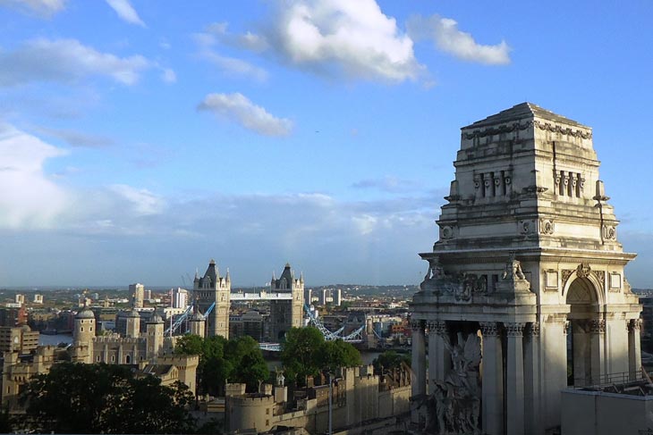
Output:
[[[523,323],[505,323],[505,425],[507,435],[524,433]]]

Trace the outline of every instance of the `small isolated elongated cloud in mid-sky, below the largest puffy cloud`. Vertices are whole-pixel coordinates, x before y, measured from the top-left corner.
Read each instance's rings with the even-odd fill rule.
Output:
[[[215,113],[222,118],[236,121],[242,127],[264,136],[287,136],[293,130],[293,122],[267,113],[240,93],[208,94],[198,105],[198,110]]]

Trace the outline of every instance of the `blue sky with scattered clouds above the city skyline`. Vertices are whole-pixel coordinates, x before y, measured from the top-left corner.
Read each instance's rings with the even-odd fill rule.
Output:
[[[0,286],[416,284],[460,128],[594,129],[653,287],[653,4],[0,0]]]

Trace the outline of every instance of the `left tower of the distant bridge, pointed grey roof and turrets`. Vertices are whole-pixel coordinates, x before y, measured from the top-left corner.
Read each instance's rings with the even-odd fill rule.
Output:
[[[227,270],[226,276],[221,277],[217,270],[216,262],[212,259],[208,263],[207,272],[199,278],[195,274],[193,281],[193,297],[199,311],[205,314],[207,322],[207,335],[221,335],[229,338],[229,307],[231,302],[229,296],[232,290],[232,280]],[[211,305],[214,305],[211,312],[206,315]]]

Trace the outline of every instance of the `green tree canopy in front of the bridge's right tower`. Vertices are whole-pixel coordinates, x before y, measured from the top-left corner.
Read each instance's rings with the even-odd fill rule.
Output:
[[[334,372],[338,367],[362,364],[360,352],[343,340],[326,341],[314,327],[292,328],[281,343],[281,362],[288,381],[304,385],[307,376],[320,371]]]

